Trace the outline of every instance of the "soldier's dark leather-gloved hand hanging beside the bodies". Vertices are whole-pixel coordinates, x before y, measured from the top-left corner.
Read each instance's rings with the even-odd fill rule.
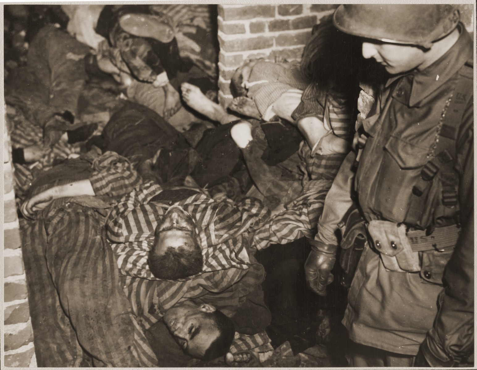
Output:
[[[338,246],[317,240],[308,240],[311,252],[305,262],[305,278],[309,288],[318,295],[326,295],[326,286],[333,281],[331,270]]]

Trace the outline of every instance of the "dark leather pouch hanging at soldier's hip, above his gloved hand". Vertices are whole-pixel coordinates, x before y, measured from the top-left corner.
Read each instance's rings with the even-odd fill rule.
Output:
[[[342,268],[341,285],[351,287],[354,273],[363,253],[367,232],[363,217],[356,208],[348,210],[338,227],[342,232],[340,266]]]

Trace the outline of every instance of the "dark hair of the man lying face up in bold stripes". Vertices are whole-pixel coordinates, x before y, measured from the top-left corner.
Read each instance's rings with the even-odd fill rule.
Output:
[[[204,260],[202,250],[197,242],[193,250],[183,247],[169,247],[163,254],[154,253],[154,248],[147,259],[152,274],[157,279],[177,280],[188,278],[202,271]]]

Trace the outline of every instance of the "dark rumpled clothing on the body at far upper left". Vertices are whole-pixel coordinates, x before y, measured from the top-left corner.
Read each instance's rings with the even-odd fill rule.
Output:
[[[33,124],[53,131],[75,130],[78,98],[87,79],[84,56],[89,48],[53,25],[42,28],[31,41],[26,67],[5,81],[5,100],[20,108]],[[52,120],[54,116],[62,120]],[[52,145],[61,133],[44,133]]]

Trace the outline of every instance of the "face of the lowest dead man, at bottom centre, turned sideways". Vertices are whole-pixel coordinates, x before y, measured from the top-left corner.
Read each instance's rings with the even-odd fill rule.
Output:
[[[166,311],[164,323],[181,348],[190,356],[202,358],[220,332],[213,319],[215,307],[197,306],[188,300]]]

